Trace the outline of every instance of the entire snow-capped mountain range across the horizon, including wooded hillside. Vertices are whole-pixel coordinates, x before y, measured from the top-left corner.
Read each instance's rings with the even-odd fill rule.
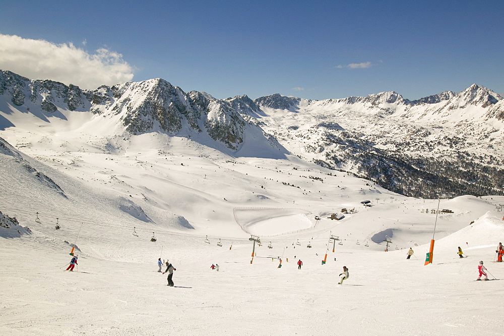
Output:
[[[4,136],[30,132],[38,137],[31,147],[45,141],[69,151],[125,153],[135,136],[150,134],[161,151],[175,137],[234,157],[290,152],[410,196],[503,192],[504,100],[476,84],[417,100],[396,92],[219,100],[162,79],[89,91],[2,71],[0,107]],[[63,142],[52,136],[64,131]],[[18,136],[8,140],[25,146]]]

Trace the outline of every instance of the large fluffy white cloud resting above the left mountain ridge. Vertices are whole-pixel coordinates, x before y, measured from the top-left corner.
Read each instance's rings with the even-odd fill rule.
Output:
[[[101,48],[90,54],[73,43],[55,44],[3,34],[0,34],[0,69],[84,89],[133,79],[133,67],[122,60],[120,53]]]

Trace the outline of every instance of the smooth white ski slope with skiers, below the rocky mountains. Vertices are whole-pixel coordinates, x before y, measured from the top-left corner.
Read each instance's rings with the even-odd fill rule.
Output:
[[[22,83],[9,93],[17,103]],[[142,85],[168,84],[123,89],[133,97]],[[124,118],[146,101],[119,104],[110,90],[90,100],[83,93],[84,105],[53,91],[51,113],[39,108],[42,95],[33,102],[28,91],[24,104],[2,100],[0,211],[30,231],[12,235],[0,226],[0,334],[501,334],[494,311],[501,284],[473,280],[479,260],[491,278],[504,278],[502,264],[491,262],[504,236],[497,211],[504,197],[405,197],[291,155],[257,125],[274,121],[270,114],[294,125],[303,113],[291,108],[304,106],[298,99],[287,113],[258,111],[250,99],[170,95],[192,96],[193,107],[209,102],[210,119],[195,119],[202,132],[189,126],[190,111],[176,133],[137,114],[158,126],[134,132]],[[228,107],[244,116],[220,114]],[[247,109],[256,116],[246,118]],[[205,120],[243,121],[244,141],[229,148]],[[436,214],[438,206],[453,212]],[[261,239],[254,258],[251,235]],[[424,266],[433,235],[434,263]],[[66,272],[72,246],[79,264]],[[458,258],[458,246],[467,258]],[[406,260],[409,247],[415,254]],[[165,286],[158,258],[173,263],[178,287]],[[340,286],[343,265],[350,278]]]

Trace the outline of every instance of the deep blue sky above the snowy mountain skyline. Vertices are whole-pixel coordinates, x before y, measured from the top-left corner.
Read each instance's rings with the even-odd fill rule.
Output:
[[[22,39],[2,43],[0,69],[81,87],[94,85],[86,76],[111,85],[133,74],[221,99],[417,99],[473,83],[504,92],[504,1],[11,1],[0,34]],[[16,49],[25,39],[72,43],[95,63],[72,61],[68,48],[52,58],[47,45],[27,46],[30,56]]]

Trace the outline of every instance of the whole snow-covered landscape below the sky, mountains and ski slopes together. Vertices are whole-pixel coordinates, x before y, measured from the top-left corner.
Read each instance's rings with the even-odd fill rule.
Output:
[[[502,101],[0,71],[0,333],[504,334]]]

